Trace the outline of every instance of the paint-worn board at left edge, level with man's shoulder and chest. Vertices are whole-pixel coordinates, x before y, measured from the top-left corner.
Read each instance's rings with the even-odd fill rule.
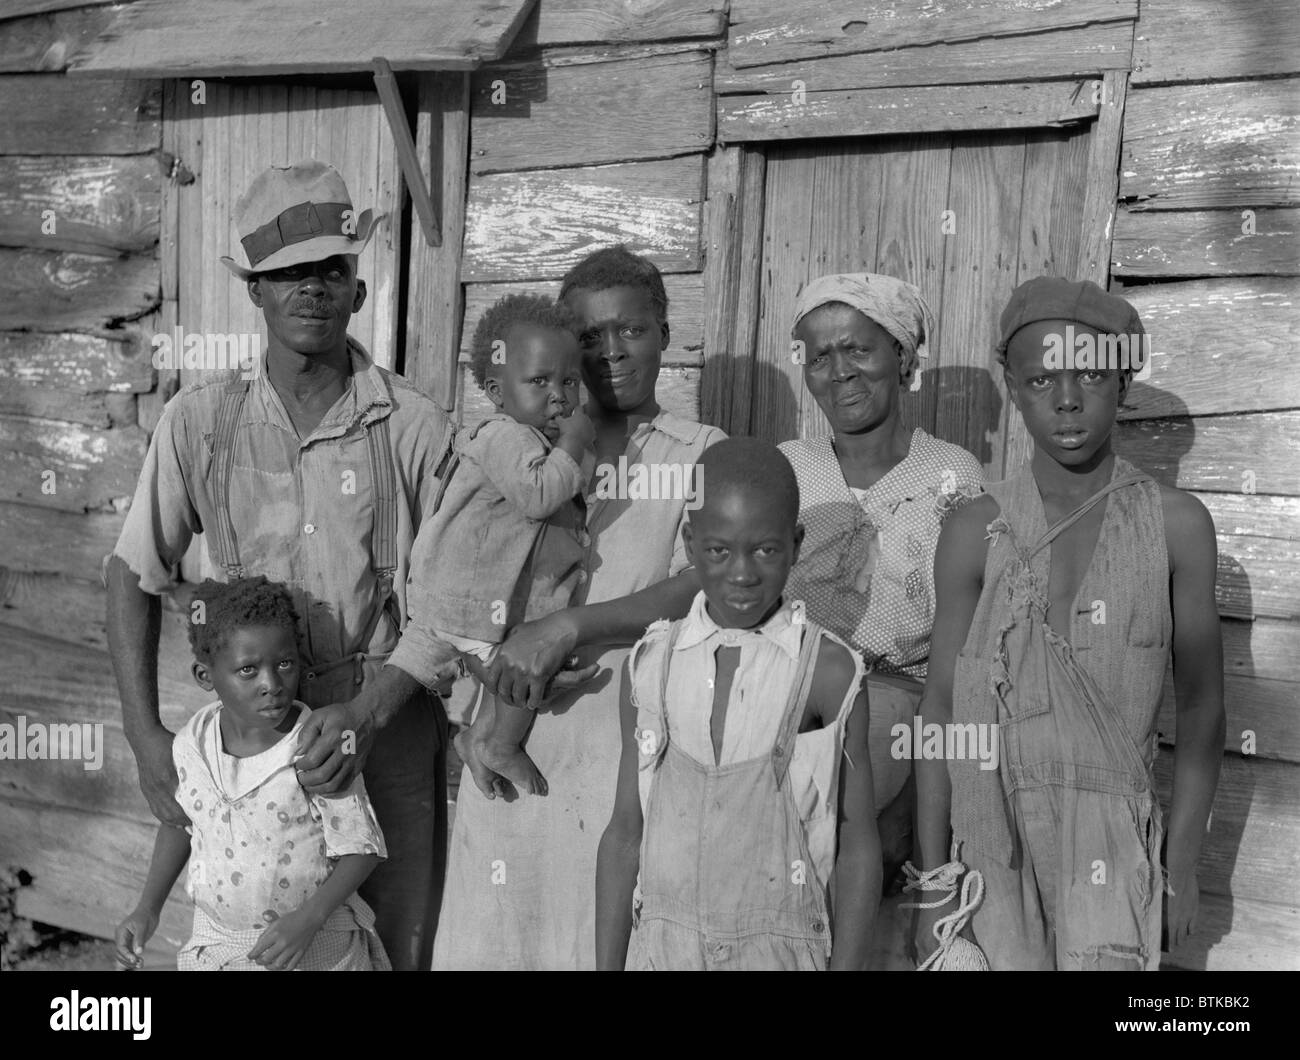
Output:
[[[144,449],[144,432],[135,428],[0,415],[0,499],[66,511],[109,505],[135,492]],[[44,481],[53,483],[52,494],[42,493]]]

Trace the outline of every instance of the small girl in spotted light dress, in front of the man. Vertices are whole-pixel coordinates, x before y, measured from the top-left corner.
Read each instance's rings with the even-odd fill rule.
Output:
[[[198,587],[194,678],[218,698],[176,735],[177,800],[188,828],[159,827],[144,894],[117,929],[138,966],[172,884],[190,862],[194,934],[182,972],[387,970],[356,888],[386,856],[361,778],[308,796],[294,756],[311,709],[298,693],[298,615],[264,576]]]

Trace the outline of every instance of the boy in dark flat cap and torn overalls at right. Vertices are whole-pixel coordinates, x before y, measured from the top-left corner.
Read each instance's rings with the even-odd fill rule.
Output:
[[[1060,356],[1143,346],[1132,306],[1039,277],[1011,294],[1001,334],[1034,457],[944,524],[920,706],[927,724],[993,727],[1000,754],[994,767],[916,763],[922,888],[953,892],[963,868],[983,874],[970,927],[994,970],[1153,970],[1162,907],[1169,946],[1193,926],[1223,753],[1214,527],[1196,498],[1112,447],[1140,363]],[[1152,763],[1170,653],[1178,732],[1162,843]],[[953,908],[920,912],[920,957]]]

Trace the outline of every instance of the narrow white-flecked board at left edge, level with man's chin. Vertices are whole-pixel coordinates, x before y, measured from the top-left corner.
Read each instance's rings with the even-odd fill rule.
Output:
[[[0,382],[5,390],[46,386],[77,394],[143,394],[153,386],[148,350],[139,338],[0,332]]]

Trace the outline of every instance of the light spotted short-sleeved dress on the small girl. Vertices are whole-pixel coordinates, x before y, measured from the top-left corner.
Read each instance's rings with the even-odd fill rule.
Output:
[[[343,855],[386,856],[384,834],[360,776],[341,795],[308,795],[294,756],[311,709],[299,702],[294,727],[246,758],[228,754],[221,704],[199,710],[176,735],[177,801],[190,817],[194,934],[181,970],[263,970],[247,959],[268,925],[298,909]],[[369,907],[352,895],[316,933],[302,970],[386,969]]]

